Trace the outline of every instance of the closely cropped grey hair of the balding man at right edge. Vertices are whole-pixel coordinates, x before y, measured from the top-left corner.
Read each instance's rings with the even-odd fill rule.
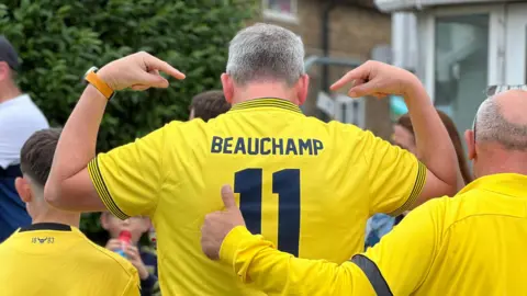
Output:
[[[474,126],[476,141],[498,143],[508,150],[527,150],[527,125],[508,122],[494,96],[481,103]]]

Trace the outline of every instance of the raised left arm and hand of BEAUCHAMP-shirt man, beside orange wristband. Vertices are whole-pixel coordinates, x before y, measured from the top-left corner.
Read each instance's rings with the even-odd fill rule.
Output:
[[[88,163],[96,157],[97,134],[108,103],[108,92],[126,88],[134,90],[167,88],[168,81],[159,75],[159,71],[177,79],[184,78],[184,75],[167,62],[146,53],[117,59],[97,72],[103,82],[102,88],[92,84],[86,88],[63,129],[45,187],[45,198],[48,203],[70,210],[105,209],[104,198],[99,197],[101,194],[98,194],[98,191],[106,195],[106,189],[101,185],[102,180],[92,182]],[[92,170],[96,172],[92,175],[100,175],[96,167],[97,163],[93,166]]]

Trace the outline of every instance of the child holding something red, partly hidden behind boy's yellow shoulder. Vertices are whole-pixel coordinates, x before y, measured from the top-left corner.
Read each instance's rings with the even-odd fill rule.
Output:
[[[139,239],[152,228],[152,223],[145,217],[131,217],[121,220],[109,212],[101,215],[101,226],[109,235],[106,249],[126,258],[139,273],[141,295],[160,295],[157,280],[157,254],[150,247],[139,246]]]

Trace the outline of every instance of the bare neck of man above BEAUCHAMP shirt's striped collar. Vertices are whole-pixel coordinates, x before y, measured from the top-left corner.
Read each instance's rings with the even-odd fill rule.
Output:
[[[233,96],[233,104],[259,98],[278,98],[299,105],[294,89],[285,88],[282,83],[277,82],[259,82],[238,88]]]

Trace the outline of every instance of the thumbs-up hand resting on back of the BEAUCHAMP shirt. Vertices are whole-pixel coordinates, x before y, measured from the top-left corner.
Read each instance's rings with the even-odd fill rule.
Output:
[[[227,234],[236,226],[245,226],[244,217],[236,206],[233,189],[229,185],[222,187],[222,200],[225,210],[206,215],[201,227],[201,248],[212,260],[220,259],[220,249]]]

